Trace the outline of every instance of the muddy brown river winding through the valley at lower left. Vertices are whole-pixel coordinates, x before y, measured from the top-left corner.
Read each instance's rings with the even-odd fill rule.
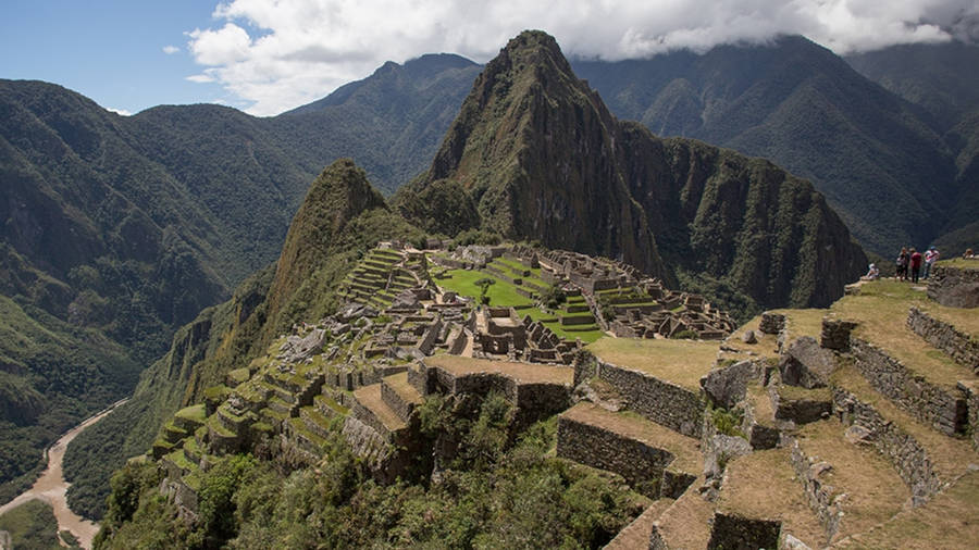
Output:
[[[61,463],[64,460],[64,450],[67,449],[67,443],[72,442],[72,439],[126,401],[128,401],[128,399],[122,399],[112,403],[107,409],[86,418],[85,422],[78,424],[61,436],[61,439],[48,448],[47,470],[45,470],[41,476],[37,478],[37,482],[34,483],[33,487],[21,495],[17,495],[16,498],[7,504],[0,507],[0,515],[3,515],[8,510],[13,510],[28,500],[40,499],[50,504],[54,510],[54,517],[58,520],[59,532],[67,529],[78,537],[78,542],[83,548],[91,548],[91,541],[95,538],[96,533],[99,532],[99,524],[83,518],[78,514],[72,512],[67,507],[65,493],[71,484],[64,480]],[[58,540],[61,541],[61,538],[59,537]]]

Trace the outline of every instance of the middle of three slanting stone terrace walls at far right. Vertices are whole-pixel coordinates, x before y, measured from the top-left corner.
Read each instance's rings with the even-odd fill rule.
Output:
[[[925,380],[883,350],[858,338],[851,341],[854,366],[873,386],[912,416],[946,435],[964,434],[966,402],[962,390]]]

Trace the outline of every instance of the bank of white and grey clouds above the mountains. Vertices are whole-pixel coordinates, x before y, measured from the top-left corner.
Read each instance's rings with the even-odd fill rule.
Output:
[[[838,53],[895,43],[979,40],[976,0],[232,0],[215,28],[187,33],[216,82],[275,114],[363,78],[385,61],[453,52],[485,62],[525,28],[565,53],[619,60],[801,34]]]

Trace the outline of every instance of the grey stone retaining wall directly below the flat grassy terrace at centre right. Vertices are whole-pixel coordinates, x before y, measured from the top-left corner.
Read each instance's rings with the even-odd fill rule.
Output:
[[[706,402],[699,395],[600,360],[596,360],[595,375],[628,399],[630,410],[684,436],[701,437]]]

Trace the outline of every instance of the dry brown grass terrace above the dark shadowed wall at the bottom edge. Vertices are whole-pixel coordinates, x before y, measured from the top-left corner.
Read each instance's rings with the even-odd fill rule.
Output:
[[[788,448],[757,451],[731,461],[717,504],[726,513],[781,520],[783,533],[791,533],[810,548],[825,546],[826,532],[795,479]]]

